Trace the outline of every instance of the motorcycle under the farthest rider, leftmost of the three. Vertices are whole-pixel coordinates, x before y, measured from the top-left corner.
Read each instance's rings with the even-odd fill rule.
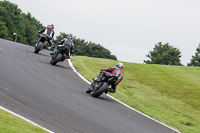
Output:
[[[47,46],[48,46],[47,35],[40,34],[39,38],[35,44],[34,53],[38,54],[40,52],[40,50],[45,49]]]

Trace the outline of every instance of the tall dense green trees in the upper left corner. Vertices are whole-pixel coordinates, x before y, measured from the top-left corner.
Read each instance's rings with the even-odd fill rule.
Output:
[[[33,45],[36,34],[43,28],[30,13],[25,14],[17,5],[9,1],[0,1],[0,38]]]

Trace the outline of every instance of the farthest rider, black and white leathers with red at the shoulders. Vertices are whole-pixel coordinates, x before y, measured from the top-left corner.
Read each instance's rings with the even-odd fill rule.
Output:
[[[37,35],[37,40],[36,42],[38,42],[39,38],[40,38],[40,34],[45,34],[46,37],[47,37],[47,42],[49,44],[49,46],[52,45],[51,41],[54,37],[54,25],[51,24],[51,25],[48,25],[47,27],[45,27],[44,29],[42,29],[41,31],[38,32],[38,35]]]

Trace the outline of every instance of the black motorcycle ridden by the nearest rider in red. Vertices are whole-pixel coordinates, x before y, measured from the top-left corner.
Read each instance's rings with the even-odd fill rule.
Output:
[[[117,81],[117,77],[112,74],[100,73],[95,79],[93,84],[90,85],[90,89],[86,90],[86,93],[91,93],[93,97],[99,97],[104,92],[108,93],[108,86]],[[91,89],[93,88],[93,89]]]

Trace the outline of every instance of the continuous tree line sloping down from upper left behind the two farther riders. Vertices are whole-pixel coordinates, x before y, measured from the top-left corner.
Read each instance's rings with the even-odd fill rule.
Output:
[[[0,1],[0,38],[14,41],[17,34],[17,42],[34,46],[34,41],[39,30],[44,26],[31,16],[31,13],[23,13],[17,5],[9,1]],[[54,43],[67,38],[69,34],[60,33],[53,40]],[[85,55],[90,57],[106,58],[117,60],[110,50],[100,44],[87,42],[84,39],[73,37],[76,55]]]

